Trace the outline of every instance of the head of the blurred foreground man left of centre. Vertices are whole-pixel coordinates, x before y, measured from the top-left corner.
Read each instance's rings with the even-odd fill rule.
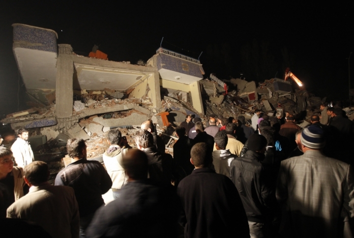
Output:
[[[128,152],[122,156],[121,166],[129,176],[128,181],[148,178],[148,157],[141,150],[129,149]]]

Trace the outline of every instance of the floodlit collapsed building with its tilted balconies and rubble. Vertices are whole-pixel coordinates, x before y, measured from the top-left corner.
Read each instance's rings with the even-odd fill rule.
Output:
[[[108,148],[107,132],[121,128],[128,143],[142,122],[151,119],[172,152],[174,126],[187,114],[251,118],[254,109],[274,115],[277,103],[308,119],[325,99],[310,95],[290,81],[269,79],[204,79],[198,59],[159,48],[147,63],[108,60],[107,54],[76,54],[57,44],[54,30],[13,24],[13,52],[26,86],[29,110],[7,115],[2,123],[30,131],[35,159],[48,161],[52,174],[63,167],[68,138],[88,141],[88,158]],[[308,122],[303,121],[304,125]],[[172,125],[172,129],[170,127]]]

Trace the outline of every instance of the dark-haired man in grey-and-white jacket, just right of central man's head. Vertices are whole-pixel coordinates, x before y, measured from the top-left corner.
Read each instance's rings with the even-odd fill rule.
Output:
[[[230,125],[230,124],[229,124]],[[224,132],[217,132],[214,137],[215,149],[212,153],[212,163],[215,171],[218,174],[223,174],[227,177],[230,176],[230,163],[233,159],[237,158],[230,150],[226,149],[228,144],[228,136]]]

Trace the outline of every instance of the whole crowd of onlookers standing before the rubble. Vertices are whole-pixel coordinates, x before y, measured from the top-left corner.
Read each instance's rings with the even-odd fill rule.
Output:
[[[210,115],[205,127],[187,115],[173,156],[151,120],[136,133],[137,148],[112,129],[105,167],[87,159],[83,139],[69,139],[72,160],[54,186],[21,129],[11,150],[0,147],[1,234],[353,237],[354,123],[339,107],[320,108],[303,129],[281,105],[272,119],[255,110],[250,125],[242,115]]]

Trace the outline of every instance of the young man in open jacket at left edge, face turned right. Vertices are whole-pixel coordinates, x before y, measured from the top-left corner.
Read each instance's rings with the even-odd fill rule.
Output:
[[[0,185],[2,198],[0,199],[0,218],[6,217],[6,209],[28,192],[23,178],[23,169],[14,166],[12,152],[0,147]]]

